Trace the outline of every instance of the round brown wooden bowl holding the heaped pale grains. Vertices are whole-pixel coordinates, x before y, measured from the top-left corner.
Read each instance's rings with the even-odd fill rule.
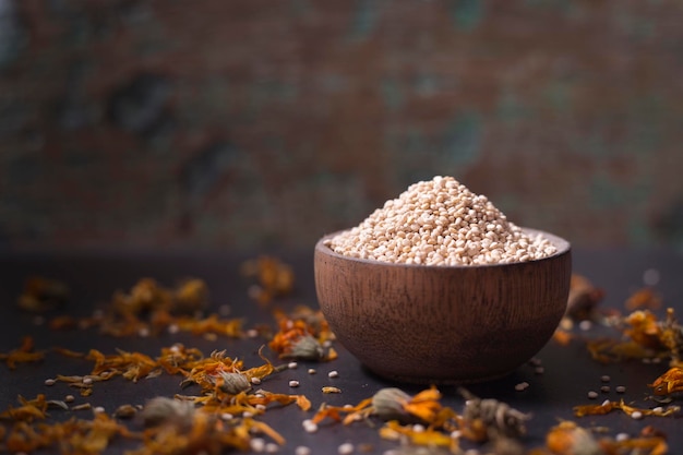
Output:
[[[374,373],[465,384],[506,375],[552,336],[567,303],[570,243],[538,230],[551,256],[426,266],[345,256],[315,246],[315,290],[337,339]]]

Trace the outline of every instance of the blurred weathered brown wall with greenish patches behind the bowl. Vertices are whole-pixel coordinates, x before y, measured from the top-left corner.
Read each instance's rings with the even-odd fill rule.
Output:
[[[453,176],[683,249],[683,2],[0,0],[0,246],[311,248]]]

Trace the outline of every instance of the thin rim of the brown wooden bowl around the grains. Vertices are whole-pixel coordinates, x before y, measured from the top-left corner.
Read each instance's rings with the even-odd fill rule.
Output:
[[[534,229],[534,228],[528,228],[528,227],[523,227],[523,226],[520,226],[520,228],[527,235],[531,234],[534,236],[537,236],[540,234],[541,236],[546,237],[558,249],[558,251],[555,251],[553,254],[549,256],[535,259],[531,261],[518,261],[518,262],[507,262],[507,263],[496,263],[496,264],[472,264],[472,265],[465,265],[465,264],[464,265],[424,265],[424,264],[405,264],[405,263],[398,263],[398,262],[384,262],[384,261],[376,261],[372,259],[347,256],[347,255],[335,252],[329,247],[324,244],[325,240],[331,239],[337,236],[338,234],[345,232],[346,230],[350,230],[350,229],[338,230],[335,232],[326,234],[315,243],[315,251],[322,254],[326,254],[326,255],[339,259],[339,260],[355,261],[355,262],[368,264],[368,265],[379,265],[379,266],[387,266],[387,267],[407,267],[407,268],[415,267],[415,268],[436,268],[436,270],[475,270],[475,268],[481,270],[481,268],[513,266],[513,265],[518,265],[518,264],[538,264],[543,261],[552,260],[554,258],[566,254],[572,249],[572,243],[570,243],[568,240],[560,236],[556,236],[554,234],[547,232],[540,229]]]

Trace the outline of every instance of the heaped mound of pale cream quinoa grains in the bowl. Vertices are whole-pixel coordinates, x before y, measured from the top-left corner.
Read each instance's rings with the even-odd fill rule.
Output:
[[[556,251],[542,235],[508,221],[487,196],[440,176],[411,184],[325,244],[351,258],[423,265],[524,262]]]

